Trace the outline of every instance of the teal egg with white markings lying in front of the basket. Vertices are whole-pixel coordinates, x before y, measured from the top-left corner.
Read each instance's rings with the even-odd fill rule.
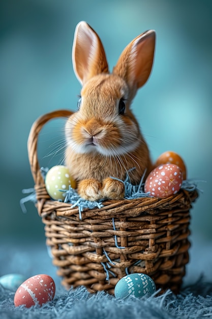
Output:
[[[156,291],[156,285],[152,278],[145,274],[134,273],[121,278],[115,285],[116,298],[126,298],[134,295],[139,298],[152,295]]]

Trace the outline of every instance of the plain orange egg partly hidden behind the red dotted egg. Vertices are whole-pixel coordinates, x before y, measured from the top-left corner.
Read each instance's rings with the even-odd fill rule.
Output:
[[[179,154],[173,152],[173,151],[166,151],[162,153],[156,160],[155,166],[158,167],[163,164],[175,164],[179,166],[179,168],[182,171],[183,179],[186,179],[186,165],[183,161],[183,158],[179,156]]]

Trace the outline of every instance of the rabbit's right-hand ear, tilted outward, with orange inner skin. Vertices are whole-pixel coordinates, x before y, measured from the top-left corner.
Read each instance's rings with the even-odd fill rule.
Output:
[[[123,77],[132,97],[143,86],[152,70],[155,52],[155,31],[149,30],[135,38],[120,55],[113,73]]]

